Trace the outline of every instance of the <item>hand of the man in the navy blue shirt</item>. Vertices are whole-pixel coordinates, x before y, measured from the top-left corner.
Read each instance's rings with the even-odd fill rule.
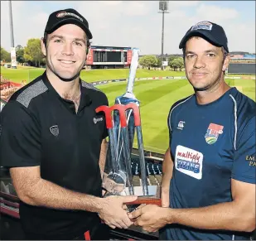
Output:
[[[130,219],[135,219],[135,225],[141,226],[147,232],[157,232],[164,227],[167,224],[167,215],[167,209],[157,205],[145,205],[128,214]]]

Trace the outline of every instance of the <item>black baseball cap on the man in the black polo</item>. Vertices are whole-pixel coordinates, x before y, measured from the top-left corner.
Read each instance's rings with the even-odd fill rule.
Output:
[[[76,26],[82,28],[89,39],[93,38],[91,32],[89,31],[89,24],[87,20],[73,8],[52,12],[48,18],[45,32],[51,33],[56,31],[57,28],[69,23],[75,24]]]

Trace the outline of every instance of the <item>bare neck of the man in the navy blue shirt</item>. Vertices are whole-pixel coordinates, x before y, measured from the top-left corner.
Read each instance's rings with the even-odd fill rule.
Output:
[[[225,80],[220,80],[220,82],[213,88],[206,89],[204,91],[196,91],[197,103],[209,104],[216,99],[219,99],[229,89],[230,87],[228,84],[225,83]]]

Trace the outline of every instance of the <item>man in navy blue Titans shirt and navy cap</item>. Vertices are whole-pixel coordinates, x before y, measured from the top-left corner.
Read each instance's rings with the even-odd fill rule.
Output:
[[[166,239],[250,239],[255,229],[255,102],[225,83],[225,31],[199,22],[181,40],[195,94],[171,106],[162,207],[144,205],[135,224]]]

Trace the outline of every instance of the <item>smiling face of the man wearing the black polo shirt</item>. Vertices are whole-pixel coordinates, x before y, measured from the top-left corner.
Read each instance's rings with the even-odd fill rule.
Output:
[[[85,31],[74,24],[65,24],[47,36],[46,46],[41,45],[42,52],[53,74],[63,79],[79,75],[86,60]]]

